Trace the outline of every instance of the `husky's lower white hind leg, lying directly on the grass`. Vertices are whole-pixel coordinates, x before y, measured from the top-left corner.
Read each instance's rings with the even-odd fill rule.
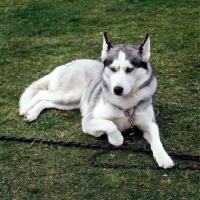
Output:
[[[42,100],[25,114],[25,120],[28,122],[31,122],[37,119],[40,112],[47,108],[57,108],[60,110],[72,110],[75,108],[79,108],[79,104],[62,105],[62,104],[55,104],[47,100]]]

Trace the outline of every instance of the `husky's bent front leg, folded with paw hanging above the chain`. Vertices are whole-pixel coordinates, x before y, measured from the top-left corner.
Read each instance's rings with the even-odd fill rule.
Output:
[[[88,133],[95,137],[100,137],[106,133],[109,142],[114,146],[120,146],[123,144],[124,138],[112,121],[85,117],[82,120],[82,128],[84,133]]]

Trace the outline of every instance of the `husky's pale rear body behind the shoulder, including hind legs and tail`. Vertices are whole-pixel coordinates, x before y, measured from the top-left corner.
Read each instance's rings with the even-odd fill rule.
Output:
[[[26,88],[19,101],[20,115],[24,115],[27,121],[33,121],[45,108],[80,108],[82,96],[102,69],[101,62],[90,59],[76,60],[57,67]]]

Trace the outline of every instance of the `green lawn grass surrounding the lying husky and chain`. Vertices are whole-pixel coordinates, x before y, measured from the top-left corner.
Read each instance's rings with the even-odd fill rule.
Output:
[[[19,97],[56,66],[99,60],[102,32],[113,42],[134,44],[149,32],[161,139],[168,151],[199,155],[199,10],[197,0],[1,1],[0,134],[106,142],[82,133],[77,110],[52,109],[24,122]],[[149,148],[143,139],[135,145]],[[92,168],[87,159],[95,152],[1,141],[0,199],[200,199],[199,171]],[[98,161],[156,165],[130,152],[111,152]]]

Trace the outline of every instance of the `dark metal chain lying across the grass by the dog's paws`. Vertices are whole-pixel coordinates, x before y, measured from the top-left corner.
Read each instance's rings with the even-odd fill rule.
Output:
[[[17,137],[17,136],[3,136],[0,135],[0,140],[4,141],[18,141],[18,142],[26,142],[26,143],[40,143],[40,144],[48,144],[48,145],[60,145],[66,147],[83,147],[83,148],[90,148],[90,149],[102,149],[102,151],[95,153],[93,156],[89,158],[89,163],[93,167],[102,167],[102,168],[123,168],[123,169],[131,169],[131,168],[140,168],[140,169],[153,169],[153,170],[161,170],[161,167],[154,167],[154,166],[138,166],[138,165],[122,165],[122,164],[110,164],[110,163],[95,163],[95,159],[112,150],[125,150],[125,151],[132,151],[132,152],[140,152],[148,155],[152,155],[152,151],[143,148],[134,148],[130,146],[128,143],[120,147],[112,146],[111,144],[90,144],[90,143],[82,143],[82,142],[66,142],[63,140],[56,141],[56,140],[46,140],[41,138],[27,138],[27,137]],[[189,154],[178,154],[175,152],[168,152],[169,156],[172,158],[177,158],[181,160],[189,160],[200,162],[200,156],[194,156]],[[200,170],[199,166],[174,166],[168,170]]]

